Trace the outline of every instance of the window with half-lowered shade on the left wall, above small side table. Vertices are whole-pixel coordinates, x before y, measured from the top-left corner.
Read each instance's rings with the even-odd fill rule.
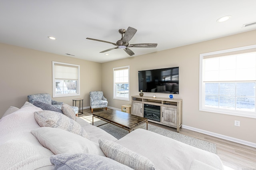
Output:
[[[80,65],[52,61],[53,97],[80,95]]]

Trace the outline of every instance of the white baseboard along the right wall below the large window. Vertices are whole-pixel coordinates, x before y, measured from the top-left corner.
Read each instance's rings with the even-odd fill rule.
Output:
[[[225,139],[225,140],[229,140],[229,141],[232,141],[232,142],[236,142],[236,143],[240,143],[240,144],[244,144],[244,145],[256,148],[256,143],[248,142],[246,140],[241,140],[241,139],[238,139],[238,138],[233,138],[233,137],[230,137],[230,136],[225,136],[225,135],[222,135],[222,134],[202,130],[202,129],[199,129],[199,128],[189,127],[189,126],[186,126],[186,125],[182,125],[182,128],[186,128],[188,130],[193,130],[193,131],[196,131],[196,132],[200,132],[200,133],[203,133],[203,134],[208,134],[210,136],[214,136],[214,137],[217,137],[217,138],[222,138],[222,139]]]

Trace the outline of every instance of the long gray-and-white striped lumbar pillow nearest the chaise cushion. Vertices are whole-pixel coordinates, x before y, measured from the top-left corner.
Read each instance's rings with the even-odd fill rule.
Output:
[[[121,164],[127,165],[134,170],[155,170],[154,164],[146,157],[121,146],[120,144],[106,140],[99,140],[100,148],[104,154]]]

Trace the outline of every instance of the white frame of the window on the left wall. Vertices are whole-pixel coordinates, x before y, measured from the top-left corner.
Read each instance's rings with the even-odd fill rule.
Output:
[[[66,67],[78,68],[78,73],[77,73],[78,79],[76,80],[77,81],[76,93],[58,94],[58,95],[56,94],[55,64],[64,65]],[[66,80],[66,79],[60,79],[60,80]],[[54,97],[71,97],[71,96],[80,96],[80,65],[52,61],[52,97],[54,98]]]

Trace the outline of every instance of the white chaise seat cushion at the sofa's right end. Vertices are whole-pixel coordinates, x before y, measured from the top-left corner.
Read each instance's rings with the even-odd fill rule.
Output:
[[[222,162],[216,154],[142,128],[133,130],[116,143],[150,158],[156,169],[168,167],[174,170],[188,170],[193,159],[219,170],[223,169]]]

